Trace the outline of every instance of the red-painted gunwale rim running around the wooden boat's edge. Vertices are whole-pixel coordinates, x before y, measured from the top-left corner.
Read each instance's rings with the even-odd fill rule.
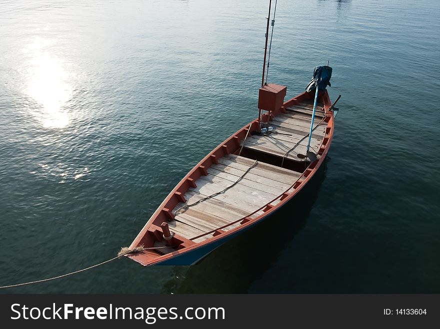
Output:
[[[295,103],[297,103],[297,99],[298,98],[302,98],[304,97],[304,95],[307,95],[306,92],[300,93],[298,95],[296,95],[295,97],[287,100],[286,102],[283,103],[283,106],[281,109],[279,109],[277,112],[277,114],[282,113],[282,109],[287,108]],[[323,92],[323,94],[321,94],[321,97],[323,97],[323,104],[324,106],[326,106],[326,108],[328,109],[328,107],[330,106],[331,102],[329,100],[329,96],[327,91],[325,90]],[[127,254],[126,256],[128,258],[131,258],[132,260],[138,262],[139,264],[143,265],[143,266],[150,266],[150,265],[154,265],[154,264],[158,264],[161,263],[163,261],[169,260],[170,258],[176,257],[176,256],[180,256],[182,254],[186,254],[188,252],[193,251],[194,249],[206,246],[210,243],[214,243],[217,242],[218,240],[224,239],[228,236],[231,236],[235,233],[237,233],[240,230],[243,230],[251,225],[254,225],[258,222],[260,222],[261,220],[263,220],[264,218],[266,218],[267,216],[271,215],[273,212],[275,212],[276,210],[278,210],[279,208],[281,208],[286,202],[288,202],[289,200],[291,200],[301,189],[302,187],[304,187],[306,185],[306,183],[313,177],[313,175],[317,172],[317,170],[319,169],[320,165],[322,164],[322,162],[324,161],[326,154],[328,152],[328,149],[330,147],[331,141],[333,139],[333,127],[334,127],[334,116],[333,116],[333,112],[332,111],[326,111],[325,113],[326,115],[324,116],[324,118],[328,118],[328,120],[325,119],[325,122],[327,123],[326,126],[326,130],[324,133],[324,136],[322,137],[322,141],[321,144],[319,146],[319,151],[322,151],[320,158],[317,159],[316,161],[310,162],[308,164],[308,166],[304,169],[304,171],[301,173],[301,175],[295,180],[295,182],[293,182],[293,184],[286,189],[283,193],[281,193],[280,195],[278,195],[276,198],[274,198],[273,200],[267,202],[266,204],[264,204],[262,207],[260,207],[259,209],[255,210],[254,212],[240,218],[237,221],[234,221],[228,225],[226,225],[225,227],[232,225],[234,223],[237,223],[239,221],[244,220],[245,218],[247,218],[248,216],[251,216],[252,214],[260,211],[261,209],[264,209],[265,207],[267,207],[270,203],[272,203],[275,200],[280,200],[280,202],[278,202],[276,205],[272,205],[270,207],[270,209],[267,209],[267,211],[264,211],[264,213],[258,215],[255,218],[249,218],[249,220],[245,223],[242,223],[241,225],[234,227],[228,231],[222,232],[221,234],[218,234],[216,236],[213,236],[209,239],[200,241],[200,242],[195,242],[193,245],[189,245],[189,246],[185,246],[182,249],[177,249],[173,252],[170,253],[166,253],[163,255],[159,255],[155,258],[149,259],[147,262],[142,262],[140,259],[138,259],[138,257],[136,257],[136,255],[130,255]],[[275,115],[276,116],[276,115]],[[162,211],[162,209],[165,207],[165,205],[170,201],[170,199],[173,197],[173,195],[175,194],[175,192],[182,186],[182,184],[185,183],[185,181],[187,181],[187,179],[196,171],[199,170],[199,167],[205,163],[215,152],[217,152],[220,148],[222,148],[223,145],[225,145],[227,142],[229,142],[230,140],[232,140],[235,136],[239,135],[240,133],[242,133],[243,131],[245,131],[247,128],[251,128],[255,123],[258,122],[258,118],[250,121],[249,123],[247,123],[245,126],[243,126],[242,128],[238,129],[235,133],[233,133],[232,135],[230,135],[228,138],[226,138],[223,142],[221,142],[217,147],[215,147],[214,149],[212,149],[203,159],[201,159],[178,183],[177,185],[170,191],[170,193],[167,195],[167,197],[161,202],[161,204],[157,207],[157,209],[154,211],[154,213],[151,215],[151,217],[149,218],[149,220],[145,223],[145,225],[143,226],[143,228],[140,230],[140,232],[137,234],[137,236],[134,238],[133,242],[130,244],[129,248],[132,249],[134,247],[137,247],[142,238],[145,236],[145,234],[147,234],[148,232],[148,228],[151,226],[151,224],[153,224],[153,221],[157,218],[157,216],[160,214],[160,212]],[[328,128],[330,128],[328,130]],[[328,131],[327,131],[328,130]],[[327,141],[325,143],[325,146],[323,146],[323,141],[324,139],[327,138]],[[318,152],[319,152],[318,151]],[[313,168],[310,168],[310,166],[313,165]],[[308,172],[307,176],[304,176],[304,174],[307,172],[307,170],[311,170]],[[303,181],[300,182],[300,184],[294,188],[294,190],[289,193],[287,196],[285,196],[284,198],[280,199],[283,195],[285,195],[285,193],[290,190],[297,182],[300,178],[305,177],[305,179]],[[172,210],[172,209],[171,209]],[[221,229],[221,227],[218,227],[217,229]],[[210,233],[206,233],[206,234],[211,234]],[[204,236],[206,234],[203,234],[201,236]],[[197,236],[200,237],[200,236]],[[195,239],[197,237],[194,237],[192,239]],[[150,257],[150,256],[147,256]]]

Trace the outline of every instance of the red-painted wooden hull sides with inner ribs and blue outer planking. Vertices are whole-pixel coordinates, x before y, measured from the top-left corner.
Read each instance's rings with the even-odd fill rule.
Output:
[[[331,104],[327,92],[324,91],[319,96],[319,98],[322,100],[324,107],[328,109]],[[307,93],[302,93],[284,102],[283,107],[278,110],[278,113],[275,112],[274,116],[276,117],[276,115],[278,114],[282,116],[282,113],[285,113],[286,108],[288,109],[290,106],[298,104],[301,99],[309,99],[309,95]],[[263,205],[260,208],[259,213],[256,213],[257,211],[254,211],[253,213],[249,213],[247,216],[244,216],[243,218],[235,221],[235,223],[239,224],[238,226],[231,228],[228,231],[224,231],[222,230],[222,227],[219,227],[218,233],[215,232],[217,234],[213,234],[213,237],[210,237],[209,239],[203,240],[201,242],[196,241],[196,243],[194,243],[194,241],[192,240],[196,238],[193,238],[191,240],[180,239],[181,246],[175,249],[175,251],[171,251],[163,255],[154,254],[154,252],[147,251],[144,253],[129,254],[127,255],[127,257],[144,266],[154,264],[190,265],[212,252],[224,242],[236,237],[237,235],[248,230],[249,228],[253,227],[254,225],[258,224],[262,220],[266,219],[267,217],[278,211],[286,204],[286,202],[292,200],[295,195],[297,195],[297,193],[307,184],[307,182],[315,175],[316,171],[319,169],[326,157],[333,136],[333,113],[331,111],[325,111],[322,116],[322,120],[325,119],[326,128],[322,143],[319,146],[318,159],[308,164],[308,166],[301,174],[301,181],[299,181],[298,178],[298,180],[296,180],[295,183],[291,185],[291,188],[289,190],[286,190],[285,193],[273,199],[273,201],[277,201],[274,205],[270,204],[272,201],[268,202],[265,206]],[[177,186],[170,192],[168,197],[158,207],[156,212],[151,216],[150,220],[145,224],[144,228],[134,239],[134,241],[130,245],[130,248],[134,248],[140,245],[150,247],[150,245],[148,245],[148,242],[151,241],[151,237],[154,238],[153,234],[151,233],[154,233],[156,235],[155,239],[157,238],[157,234],[161,236],[160,227],[158,227],[157,225],[159,225],[159,223],[161,223],[162,221],[167,220],[166,218],[169,218],[169,216],[172,215],[171,210],[176,207],[177,203],[179,202],[178,199],[181,198],[183,191],[188,189],[190,183],[203,175],[203,173],[201,173],[202,171],[205,171],[206,168],[214,165],[214,163],[218,163],[217,159],[219,159],[220,157],[229,154],[228,148],[230,149],[231,145],[237,145],[237,141],[242,140],[244,138],[244,135],[246,135],[247,129],[251,129],[251,127],[256,127],[256,125],[257,121],[254,120],[250,123],[250,125],[248,124],[242,127],[235,134],[231,135],[223,143],[218,145],[209,154],[207,154],[196,166],[194,166],[194,168],[179,182],[179,184],[177,184]],[[252,214],[255,214],[256,217],[254,216],[252,218]],[[154,232],[151,230],[151,227],[154,227]],[[148,239],[145,238],[147,236]]]

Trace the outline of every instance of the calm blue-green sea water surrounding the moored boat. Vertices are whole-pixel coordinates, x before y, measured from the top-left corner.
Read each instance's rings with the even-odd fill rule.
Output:
[[[266,1],[1,1],[0,285],[127,246],[256,116]],[[440,3],[278,1],[269,81],[342,94],[325,172],[191,267],[7,292],[440,292]],[[3,290],[2,292],[6,292]]]

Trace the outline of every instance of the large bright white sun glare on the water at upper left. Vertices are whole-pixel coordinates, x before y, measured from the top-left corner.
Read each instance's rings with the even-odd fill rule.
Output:
[[[26,93],[42,106],[34,114],[44,127],[63,128],[69,123],[63,105],[70,99],[72,87],[65,65],[48,50],[50,42],[36,38],[29,47],[31,60],[27,77]]]

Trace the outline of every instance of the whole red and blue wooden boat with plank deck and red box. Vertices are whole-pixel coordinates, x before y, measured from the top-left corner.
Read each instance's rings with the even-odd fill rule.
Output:
[[[267,32],[268,21],[265,49]],[[284,102],[286,87],[263,83],[264,66],[265,55],[258,118],[182,178],[129,247],[145,250],[127,257],[144,266],[193,264],[276,212],[322,165],[334,122],[326,85]]]

